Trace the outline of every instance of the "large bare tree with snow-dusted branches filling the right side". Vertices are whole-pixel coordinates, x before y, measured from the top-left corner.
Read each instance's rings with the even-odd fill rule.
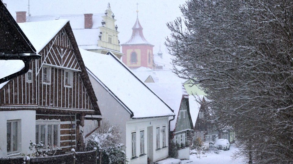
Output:
[[[189,0],[167,24],[179,77],[207,94],[209,120],[233,127],[250,163],[293,162],[293,2]],[[203,103],[203,102],[201,102]]]

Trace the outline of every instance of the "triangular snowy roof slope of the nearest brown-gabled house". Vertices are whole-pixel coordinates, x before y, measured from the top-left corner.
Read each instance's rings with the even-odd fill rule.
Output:
[[[67,22],[67,19],[60,19],[42,22],[25,22],[18,23],[18,25],[31,41],[36,52],[39,53]]]

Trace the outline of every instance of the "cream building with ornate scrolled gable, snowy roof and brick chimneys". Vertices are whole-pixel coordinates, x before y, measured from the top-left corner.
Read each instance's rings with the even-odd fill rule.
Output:
[[[121,58],[124,54],[120,52],[118,26],[114,18],[110,3],[103,13],[27,16],[26,12],[16,12],[19,23],[68,19],[79,47],[103,54],[111,51]]]

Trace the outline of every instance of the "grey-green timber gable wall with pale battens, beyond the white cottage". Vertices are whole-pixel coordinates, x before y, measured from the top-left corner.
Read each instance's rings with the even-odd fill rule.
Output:
[[[175,132],[182,132],[189,129],[191,129],[191,127],[187,112],[187,101],[185,100],[185,98],[183,98],[179,109]]]

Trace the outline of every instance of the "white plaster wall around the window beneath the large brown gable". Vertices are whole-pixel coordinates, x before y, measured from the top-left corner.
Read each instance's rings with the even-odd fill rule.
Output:
[[[7,120],[20,120],[19,152],[31,153],[30,141],[35,141],[36,111],[0,111],[0,157],[7,156]]]

